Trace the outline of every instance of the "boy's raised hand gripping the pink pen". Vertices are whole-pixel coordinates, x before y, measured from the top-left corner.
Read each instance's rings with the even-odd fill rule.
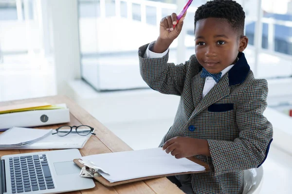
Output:
[[[177,15],[172,13],[170,16],[162,18],[160,21],[160,33],[159,37],[166,41],[173,41],[176,39],[183,29],[183,19],[186,15],[186,12],[183,14],[183,17],[179,20],[177,24]],[[176,25],[173,28],[173,25]]]

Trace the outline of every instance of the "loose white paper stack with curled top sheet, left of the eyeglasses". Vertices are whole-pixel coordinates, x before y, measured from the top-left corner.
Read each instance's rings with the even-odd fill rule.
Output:
[[[13,127],[0,134],[0,149],[25,146],[52,133],[52,129],[29,129]]]

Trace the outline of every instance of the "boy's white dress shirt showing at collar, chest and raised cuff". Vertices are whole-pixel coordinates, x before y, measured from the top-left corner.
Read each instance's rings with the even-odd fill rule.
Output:
[[[149,46],[152,46],[155,42],[152,42],[148,45],[148,48],[144,54],[144,58],[162,58],[164,57],[164,55],[167,54],[168,50],[169,49],[166,49],[163,53],[156,53],[156,52],[152,52],[150,49],[149,49]],[[237,59],[238,60],[238,59]],[[226,67],[225,69],[223,69],[221,71],[222,75],[221,75],[221,78],[233,67],[233,65],[229,65],[228,67]],[[203,88],[203,97],[206,96],[206,94],[214,87],[214,85],[216,84],[216,81],[208,76],[206,77],[205,79],[205,84],[204,84],[204,88]]]

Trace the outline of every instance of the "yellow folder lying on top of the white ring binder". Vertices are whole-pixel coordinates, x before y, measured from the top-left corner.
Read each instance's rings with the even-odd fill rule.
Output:
[[[31,103],[24,103],[24,104],[13,104],[13,105],[8,105],[8,106],[2,106],[0,107],[0,114],[15,113],[15,112],[22,112],[22,111],[60,109],[60,108],[62,107],[51,105],[46,102],[43,102],[43,103],[31,102]]]

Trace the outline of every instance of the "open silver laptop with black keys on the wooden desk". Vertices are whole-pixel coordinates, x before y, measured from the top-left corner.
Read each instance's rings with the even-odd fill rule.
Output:
[[[73,162],[80,157],[78,149],[2,156],[0,194],[55,194],[93,188],[93,180],[80,177],[81,169]]]

